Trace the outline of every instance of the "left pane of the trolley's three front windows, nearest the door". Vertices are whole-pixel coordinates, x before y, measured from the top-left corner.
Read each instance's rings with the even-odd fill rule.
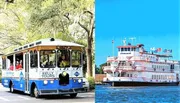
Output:
[[[40,66],[41,68],[55,68],[56,51],[55,50],[41,50],[40,51]]]

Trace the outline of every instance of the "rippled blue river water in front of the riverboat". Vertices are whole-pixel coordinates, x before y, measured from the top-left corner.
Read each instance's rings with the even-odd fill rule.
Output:
[[[180,86],[96,86],[96,103],[180,103]]]

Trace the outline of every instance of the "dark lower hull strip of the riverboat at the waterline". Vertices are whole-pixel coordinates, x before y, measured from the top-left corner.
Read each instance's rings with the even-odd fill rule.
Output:
[[[179,82],[105,82],[110,84],[111,86],[178,86]]]

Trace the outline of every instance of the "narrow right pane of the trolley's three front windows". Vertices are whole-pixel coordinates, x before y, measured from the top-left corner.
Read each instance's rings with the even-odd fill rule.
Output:
[[[81,52],[72,51],[72,67],[79,67],[81,65]]]

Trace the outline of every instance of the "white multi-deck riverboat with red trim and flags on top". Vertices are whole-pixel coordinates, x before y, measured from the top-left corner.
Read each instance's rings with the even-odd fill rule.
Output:
[[[179,84],[180,62],[171,53],[147,52],[143,44],[124,44],[118,46],[117,57],[107,57],[103,71],[103,82],[112,86],[172,86]]]

